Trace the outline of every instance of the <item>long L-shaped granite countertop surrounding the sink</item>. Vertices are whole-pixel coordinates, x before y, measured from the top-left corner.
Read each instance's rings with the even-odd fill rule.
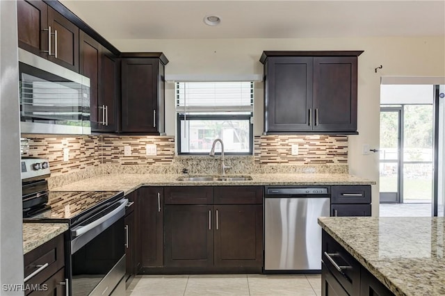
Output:
[[[102,174],[52,188],[54,191],[124,191],[140,186],[286,186],[286,185],[371,185],[375,181],[350,174],[248,174],[251,181],[177,181],[184,174]],[[230,176],[227,174],[227,176]]]

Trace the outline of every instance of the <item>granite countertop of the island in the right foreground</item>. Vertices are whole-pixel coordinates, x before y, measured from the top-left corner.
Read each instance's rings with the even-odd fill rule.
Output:
[[[396,295],[445,295],[444,217],[319,217]]]

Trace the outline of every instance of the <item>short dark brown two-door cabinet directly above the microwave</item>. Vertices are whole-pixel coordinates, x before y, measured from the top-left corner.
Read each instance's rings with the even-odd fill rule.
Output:
[[[17,1],[19,47],[79,72],[79,28],[40,0]]]

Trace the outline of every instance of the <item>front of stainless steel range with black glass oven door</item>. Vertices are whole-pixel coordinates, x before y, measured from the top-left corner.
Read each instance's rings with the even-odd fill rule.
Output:
[[[125,295],[124,214],[120,199],[71,229],[72,295]]]

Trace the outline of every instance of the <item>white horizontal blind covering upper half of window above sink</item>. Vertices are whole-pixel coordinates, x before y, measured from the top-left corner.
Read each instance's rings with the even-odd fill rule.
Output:
[[[253,112],[252,81],[177,82],[177,113]]]

